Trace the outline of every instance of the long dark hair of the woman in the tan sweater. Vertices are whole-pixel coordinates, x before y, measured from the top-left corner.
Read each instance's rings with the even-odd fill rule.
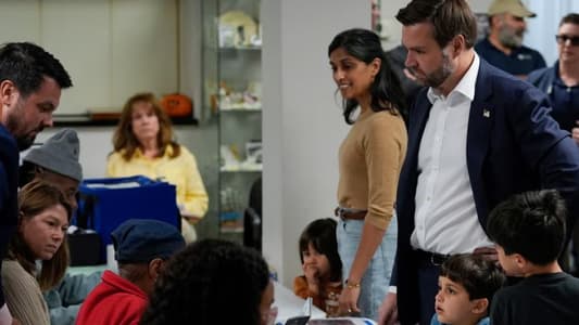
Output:
[[[372,63],[376,57],[380,58],[380,70],[370,88],[372,110],[390,110],[393,114],[405,112],[404,91],[386,58],[380,38],[374,31],[353,28],[338,34],[328,47],[328,56],[339,48],[344,49],[348,54],[366,64]],[[343,117],[347,123],[352,125],[354,122],[351,117],[357,105],[355,100],[344,101]]]

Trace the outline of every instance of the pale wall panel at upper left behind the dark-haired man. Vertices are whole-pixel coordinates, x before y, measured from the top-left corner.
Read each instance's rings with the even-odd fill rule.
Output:
[[[118,112],[136,92],[178,91],[178,0],[3,0],[0,43],[53,53],[73,87],[58,115]]]

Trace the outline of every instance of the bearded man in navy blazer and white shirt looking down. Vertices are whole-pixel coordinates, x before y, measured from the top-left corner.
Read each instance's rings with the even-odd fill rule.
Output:
[[[430,324],[444,259],[496,258],[486,222],[500,202],[556,188],[572,224],[579,150],[550,116],[544,94],[478,57],[476,18],[465,0],[414,0],[397,18],[406,67],[428,89],[410,112],[397,202],[397,294],[386,297],[379,322]]]

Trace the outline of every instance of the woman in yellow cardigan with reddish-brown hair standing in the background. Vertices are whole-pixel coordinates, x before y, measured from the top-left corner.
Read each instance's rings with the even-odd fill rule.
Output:
[[[207,211],[209,197],[194,156],[174,140],[171,119],[152,93],[138,93],[125,104],[113,135],[114,153],[106,161],[108,177],[142,174],[177,187],[177,204],[187,243],[193,224]]]

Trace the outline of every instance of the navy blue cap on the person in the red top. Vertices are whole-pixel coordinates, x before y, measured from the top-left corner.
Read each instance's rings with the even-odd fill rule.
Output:
[[[121,263],[148,263],[168,259],[185,247],[177,227],[153,219],[129,219],[112,233],[115,259]]]

